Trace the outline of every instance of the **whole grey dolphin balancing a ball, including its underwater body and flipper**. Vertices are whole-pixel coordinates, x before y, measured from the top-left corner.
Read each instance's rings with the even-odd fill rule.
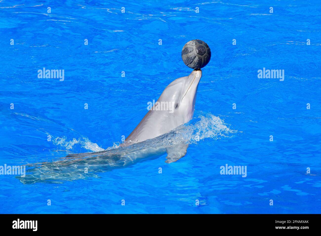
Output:
[[[78,153],[56,162],[26,165],[24,184],[49,181],[99,178],[97,173],[123,168],[136,162],[157,158],[167,153],[167,163],[176,162],[187,152],[187,140],[177,134],[193,118],[196,92],[202,77],[200,69],[171,82],[158,102],[173,104],[172,109],[150,109],[137,127],[118,148],[95,153]],[[30,167],[30,168],[29,168]]]

